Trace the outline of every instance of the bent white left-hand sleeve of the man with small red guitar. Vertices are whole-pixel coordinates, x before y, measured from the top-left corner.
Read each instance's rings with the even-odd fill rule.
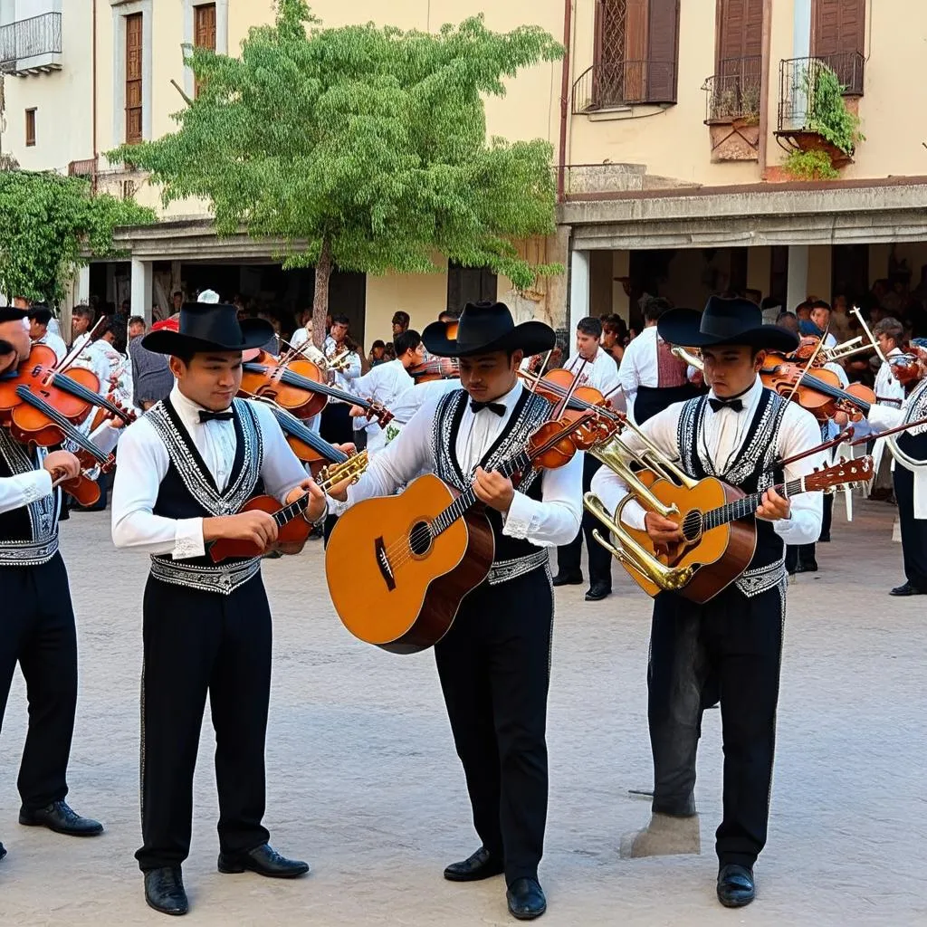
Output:
[[[164,442],[144,418],[126,429],[113,483],[113,543],[146,553],[170,553],[174,560],[201,557],[206,552],[202,518],[153,513],[169,464]]]

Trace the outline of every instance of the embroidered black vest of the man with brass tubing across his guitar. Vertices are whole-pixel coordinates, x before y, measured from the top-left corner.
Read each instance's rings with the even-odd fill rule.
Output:
[[[717,476],[730,486],[743,489],[748,495],[773,486],[782,478],[781,468],[775,464],[779,429],[788,405],[787,400],[764,387],[740,451],[732,456],[721,472],[718,469],[721,464],[711,460],[705,451],[703,436],[708,398],[701,396],[689,400],[679,415],[677,434],[682,469],[696,479]],[[785,576],[784,552],[785,544],[772,523],[757,520],[756,552],[737,579],[737,588],[746,596],[754,596],[778,585]]]

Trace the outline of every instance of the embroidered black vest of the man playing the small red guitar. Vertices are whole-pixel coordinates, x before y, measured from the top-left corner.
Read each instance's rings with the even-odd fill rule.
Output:
[[[234,400],[235,462],[228,484],[220,492],[209,467],[190,440],[171,400],[163,400],[146,414],[167,448],[170,464],[161,480],[152,512],[165,518],[210,518],[233,515],[260,494],[263,440],[258,416],[246,400]],[[227,595],[257,576],[260,557],[230,558],[214,564],[209,554],[174,560],[171,554],[153,554],[151,575],[178,586]]]

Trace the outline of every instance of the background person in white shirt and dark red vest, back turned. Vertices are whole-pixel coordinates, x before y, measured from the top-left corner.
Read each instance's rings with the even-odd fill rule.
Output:
[[[644,328],[625,349],[618,377],[633,420],[642,425],[674,402],[697,396],[699,388],[689,380],[689,368],[657,333],[656,324],[669,302],[660,297],[643,304]]]

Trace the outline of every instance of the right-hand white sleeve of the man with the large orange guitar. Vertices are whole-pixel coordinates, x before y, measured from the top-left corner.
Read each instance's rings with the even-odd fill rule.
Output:
[[[529,540],[538,547],[558,547],[576,538],[582,520],[583,455],[541,475],[541,501],[515,490],[503,516],[502,534]]]

